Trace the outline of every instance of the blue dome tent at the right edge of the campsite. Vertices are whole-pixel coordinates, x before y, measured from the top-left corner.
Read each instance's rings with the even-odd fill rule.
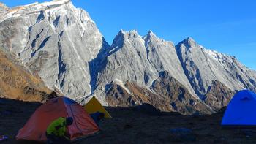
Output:
[[[236,93],[227,105],[222,126],[256,126],[256,94],[248,90]]]

